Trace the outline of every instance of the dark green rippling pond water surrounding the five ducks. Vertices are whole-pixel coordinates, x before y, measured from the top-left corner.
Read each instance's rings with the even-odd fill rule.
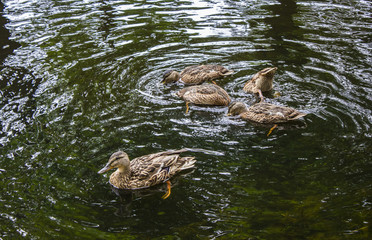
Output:
[[[1,239],[372,239],[370,1],[3,4]],[[266,137],[226,108],[185,115],[159,82],[192,64],[235,70],[219,85],[247,104],[277,66],[267,100],[308,116]],[[97,174],[118,149],[183,147],[202,150],[166,200]]]

